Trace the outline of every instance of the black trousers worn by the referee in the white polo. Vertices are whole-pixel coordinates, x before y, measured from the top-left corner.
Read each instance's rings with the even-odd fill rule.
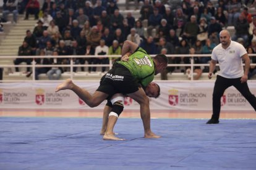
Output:
[[[213,115],[211,116],[212,119],[220,118],[221,97],[224,94],[224,91],[230,86],[236,87],[236,89],[241,92],[241,94],[256,111],[256,97],[250,92],[247,82],[241,83],[241,78],[230,79],[223,78],[222,76],[218,75],[213,89]]]

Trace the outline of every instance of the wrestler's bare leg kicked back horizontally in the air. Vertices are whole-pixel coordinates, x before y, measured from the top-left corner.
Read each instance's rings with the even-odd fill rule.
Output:
[[[56,87],[55,92],[66,89],[74,91],[75,94],[77,94],[80,97],[80,99],[83,100],[83,102],[87,103],[89,107],[96,107],[100,105],[100,103],[108,97],[108,94],[105,94],[104,92],[100,91],[95,91],[94,94],[91,95],[85,89],[82,89],[81,87],[75,85],[71,79],[66,79],[64,83],[59,84],[59,86]]]

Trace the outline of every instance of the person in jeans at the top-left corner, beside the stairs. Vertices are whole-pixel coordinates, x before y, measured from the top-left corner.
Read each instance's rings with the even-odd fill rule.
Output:
[[[4,20],[8,20],[7,16],[8,14],[12,13],[12,17],[13,23],[17,23],[17,15],[18,15],[18,0],[7,0],[6,4],[4,4],[4,6],[2,6],[3,11],[2,11],[2,18],[4,18]]]

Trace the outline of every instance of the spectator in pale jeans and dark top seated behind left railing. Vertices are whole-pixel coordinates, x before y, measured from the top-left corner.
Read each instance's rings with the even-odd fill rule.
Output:
[[[53,56],[58,56],[58,51],[53,52]],[[63,64],[61,59],[58,58],[51,58],[50,62],[51,65],[61,65]],[[46,75],[48,76],[48,79],[60,79],[61,73],[63,73],[63,70],[61,67],[52,67]]]

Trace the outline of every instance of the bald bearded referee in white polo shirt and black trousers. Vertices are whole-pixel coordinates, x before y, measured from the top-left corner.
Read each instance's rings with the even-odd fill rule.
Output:
[[[217,62],[220,64],[220,72],[213,89],[213,115],[207,124],[219,123],[221,96],[230,86],[236,87],[256,111],[256,97],[250,92],[247,85],[250,59],[244,46],[231,41],[228,30],[220,32],[220,42],[211,53],[208,78],[211,79]],[[245,68],[242,66],[242,60],[244,60]]]

